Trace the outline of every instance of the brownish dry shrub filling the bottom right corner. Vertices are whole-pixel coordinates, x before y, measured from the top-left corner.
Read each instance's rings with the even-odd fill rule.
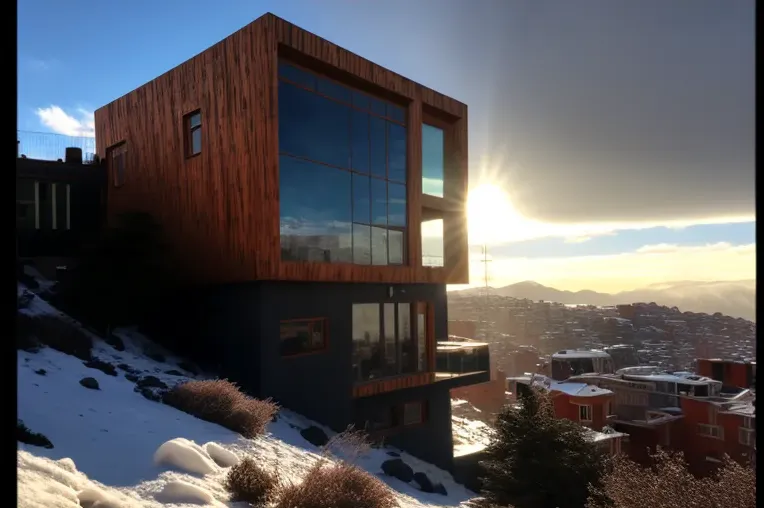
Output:
[[[756,471],[729,457],[713,477],[698,478],[688,470],[681,453],[659,450],[650,467],[625,456],[615,457],[592,491],[587,508],[753,508]],[[601,501],[596,501],[595,498]]]

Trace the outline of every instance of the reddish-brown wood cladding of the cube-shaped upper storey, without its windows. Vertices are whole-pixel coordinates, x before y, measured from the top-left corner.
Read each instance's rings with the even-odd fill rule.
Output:
[[[279,59],[405,108],[402,266],[282,260]],[[201,150],[190,155],[187,119],[194,112],[201,114]],[[443,197],[422,194],[423,121],[444,132]],[[98,154],[108,164],[118,147],[126,158],[124,174],[109,171],[109,216],[154,214],[189,283],[468,282],[466,105],[276,16],[258,18],[98,109],[95,123]],[[443,219],[443,266],[422,266],[423,211]]]

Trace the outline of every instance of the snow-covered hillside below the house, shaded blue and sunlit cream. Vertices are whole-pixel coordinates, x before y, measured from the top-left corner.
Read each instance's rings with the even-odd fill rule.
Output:
[[[60,315],[39,297],[24,312]],[[148,358],[144,351],[150,344],[136,332],[120,330],[118,335],[125,351],[96,339],[93,356],[115,366],[127,364],[170,386],[193,377],[171,355],[161,363]],[[185,375],[166,372],[171,369]],[[245,439],[144,398],[125,374],[118,370],[117,376],[107,375],[50,348],[18,352],[18,418],[54,446],[18,444],[19,507],[245,506],[230,502],[222,487],[227,467],[235,461],[251,456],[298,480],[320,457],[320,450],[299,433],[312,422],[297,414],[282,410],[265,436]],[[84,377],[95,378],[100,389],[81,386]],[[388,451],[392,449],[372,449],[358,462],[397,493],[402,508],[463,506],[475,496],[450,474],[399,450],[414,471],[442,483],[448,495],[423,493],[384,475],[380,466],[390,458]]]

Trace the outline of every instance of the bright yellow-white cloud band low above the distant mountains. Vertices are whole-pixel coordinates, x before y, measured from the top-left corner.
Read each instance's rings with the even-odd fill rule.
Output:
[[[470,278],[482,285],[484,267],[473,256]],[[489,284],[534,280],[557,289],[615,293],[677,280],[756,279],[756,244],[646,245],[634,252],[559,258],[493,258]]]

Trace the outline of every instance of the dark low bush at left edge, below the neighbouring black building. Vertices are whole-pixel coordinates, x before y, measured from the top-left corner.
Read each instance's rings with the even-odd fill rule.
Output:
[[[93,349],[91,336],[65,317],[16,313],[16,348],[29,351],[37,344],[45,344],[81,360],[90,360]]]

